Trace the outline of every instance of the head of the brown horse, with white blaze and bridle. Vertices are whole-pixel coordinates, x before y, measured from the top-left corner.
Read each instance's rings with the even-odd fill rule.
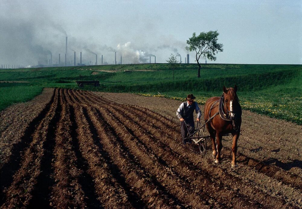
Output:
[[[239,104],[239,99],[237,97],[237,86],[235,85],[234,88],[226,88],[223,86],[224,92],[224,106],[226,107],[226,112],[229,113],[229,118],[234,119],[236,116],[241,116],[241,107]]]

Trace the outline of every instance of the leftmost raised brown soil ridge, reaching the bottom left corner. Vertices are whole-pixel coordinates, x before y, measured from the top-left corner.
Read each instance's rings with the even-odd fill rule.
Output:
[[[56,90],[53,103],[47,115],[40,121],[32,135],[30,146],[24,151],[20,169],[16,172],[11,186],[6,192],[6,207],[27,206],[34,195],[33,191],[39,174],[41,173],[41,158],[45,154],[43,147],[46,143],[50,121],[53,119],[58,103],[58,90]]]

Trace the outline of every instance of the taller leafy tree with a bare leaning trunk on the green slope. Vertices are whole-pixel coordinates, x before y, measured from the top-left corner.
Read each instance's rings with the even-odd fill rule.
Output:
[[[216,60],[216,57],[214,55],[217,54],[217,52],[223,51],[223,44],[217,43],[218,38],[217,36],[219,33],[217,33],[217,30],[209,32],[201,32],[198,36],[196,36],[196,33],[193,33],[193,36],[187,40],[187,44],[189,46],[186,46],[185,49],[188,51],[196,52],[196,61],[198,63],[198,78],[200,78],[200,68],[201,65],[199,63],[199,58],[201,55],[204,58],[207,58],[208,60]]]

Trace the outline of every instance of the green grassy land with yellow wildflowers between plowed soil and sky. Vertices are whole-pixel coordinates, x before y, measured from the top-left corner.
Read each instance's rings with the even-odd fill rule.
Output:
[[[29,83],[0,83],[0,110],[12,103],[31,99],[43,87],[78,88],[76,80],[121,81],[84,88],[94,91],[131,92],[146,96],[158,96],[160,92],[176,99],[194,93],[201,104],[209,97],[220,96],[223,85],[231,87],[236,84],[244,109],[301,125],[301,66],[204,64],[201,78],[197,78],[196,64],[182,64],[174,71],[174,79],[168,64],[2,69],[0,81]]]

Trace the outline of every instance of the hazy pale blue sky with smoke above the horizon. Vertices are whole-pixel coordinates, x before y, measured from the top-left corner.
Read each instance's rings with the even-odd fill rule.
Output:
[[[102,54],[112,64],[114,51],[123,63],[149,62],[150,54],[165,62],[171,53],[184,62],[186,40],[209,30],[224,50],[208,63],[302,64],[302,0],[0,0],[0,8],[0,64],[37,65],[50,52],[62,62],[65,33],[72,62],[72,50],[93,64],[89,50],[99,64]]]

